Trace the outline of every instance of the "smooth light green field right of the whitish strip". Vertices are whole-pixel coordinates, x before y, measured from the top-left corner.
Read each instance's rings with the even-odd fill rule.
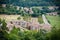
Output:
[[[59,16],[48,16],[46,15],[50,24],[54,27],[60,27],[60,17]]]

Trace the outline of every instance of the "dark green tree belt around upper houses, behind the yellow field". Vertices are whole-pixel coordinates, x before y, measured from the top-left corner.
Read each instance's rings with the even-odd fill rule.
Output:
[[[23,7],[24,8],[24,7]],[[30,7],[28,7],[30,8]],[[10,4],[7,4],[6,7],[2,7],[0,6],[0,14],[8,14],[8,15],[22,15],[24,16],[24,14],[26,15],[31,15],[32,17],[38,17],[42,14],[46,14],[46,13],[50,13],[50,12],[55,12],[55,10],[50,10],[47,6],[43,6],[42,7],[42,10],[40,9],[40,7],[32,7],[32,11],[33,13],[30,14],[29,12],[26,12],[24,9],[22,8],[19,8],[19,10],[17,10],[17,6],[14,6],[14,5],[10,5]]]

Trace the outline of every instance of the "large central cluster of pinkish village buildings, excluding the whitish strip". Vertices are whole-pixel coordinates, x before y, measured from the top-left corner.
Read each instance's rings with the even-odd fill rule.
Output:
[[[11,20],[9,22],[7,22],[7,27],[8,29],[11,31],[13,27],[16,28],[26,28],[28,30],[39,30],[41,29],[46,29],[46,30],[50,30],[50,25],[49,24],[39,24],[38,22],[26,22],[26,21],[21,21],[21,20]]]

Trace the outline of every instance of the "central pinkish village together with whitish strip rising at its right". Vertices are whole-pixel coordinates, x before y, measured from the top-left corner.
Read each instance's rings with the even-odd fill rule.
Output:
[[[10,20],[7,21],[7,27],[9,29],[9,31],[11,31],[13,29],[13,27],[15,26],[16,28],[24,28],[28,29],[28,30],[40,30],[40,29],[45,29],[45,30],[50,30],[51,25],[48,23],[47,19],[45,18],[45,16],[42,16],[44,23],[40,24],[38,21],[31,19],[31,21],[24,21],[24,20]]]

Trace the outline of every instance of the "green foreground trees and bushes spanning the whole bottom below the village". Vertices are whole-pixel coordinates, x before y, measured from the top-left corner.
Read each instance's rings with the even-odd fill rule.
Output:
[[[60,27],[52,27],[50,32],[40,29],[36,31],[21,31],[19,28],[13,27],[10,33],[7,33],[5,21],[0,19],[2,27],[0,28],[0,40],[60,40]]]

